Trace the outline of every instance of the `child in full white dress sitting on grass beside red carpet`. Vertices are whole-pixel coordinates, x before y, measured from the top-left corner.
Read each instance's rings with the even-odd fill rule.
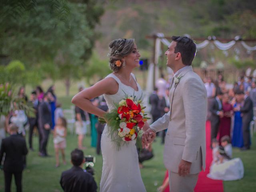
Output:
[[[244,166],[240,158],[232,158],[232,145],[230,137],[223,136],[221,138],[221,146],[219,148],[218,160],[213,162],[210,167],[208,178],[224,181],[239,180],[244,177]]]

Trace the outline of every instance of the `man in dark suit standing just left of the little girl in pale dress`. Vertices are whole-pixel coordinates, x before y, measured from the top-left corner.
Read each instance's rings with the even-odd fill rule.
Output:
[[[39,156],[43,157],[48,156],[46,146],[52,126],[52,112],[49,104],[50,94],[50,92],[44,94],[44,100],[40,103],[38,110],[38,125],[40,134],[42,135]]]

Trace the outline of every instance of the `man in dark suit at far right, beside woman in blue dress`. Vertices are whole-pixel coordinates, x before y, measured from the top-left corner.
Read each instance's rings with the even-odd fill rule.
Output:
[[[241,150],[250,149],[250,122],[253,119],[253,103],[250,97],[243,91],[238,92],[238,96],[244,100],[240,112],[242,113],[244,147]]]

